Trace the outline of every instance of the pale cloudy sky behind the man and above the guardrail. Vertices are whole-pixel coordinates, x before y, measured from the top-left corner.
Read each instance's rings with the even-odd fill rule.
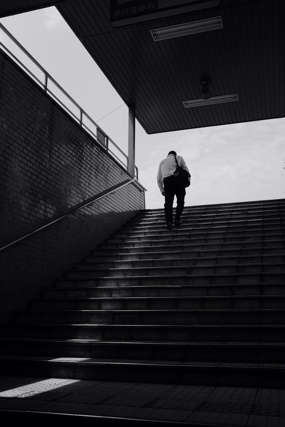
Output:
[[[0,22],[127,154],[128,108],[100,120],[123,101],[56,8]],[[0,41],[11,46],[1,30]],[[156,175],[170,150],[182,155],[191,173],[186,206],[283,199],[284,131],[281,118],[147,135],[136,121],[135,164],[147,188],[146,208],[163,207]]]

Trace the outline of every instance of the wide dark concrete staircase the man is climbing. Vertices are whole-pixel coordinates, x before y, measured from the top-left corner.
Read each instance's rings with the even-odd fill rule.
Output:
[[[285,199],[141,212],[1,326],[0,374],[285,388]]]

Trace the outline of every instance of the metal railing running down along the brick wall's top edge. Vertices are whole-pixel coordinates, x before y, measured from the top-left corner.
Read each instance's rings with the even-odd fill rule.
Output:
[[[103,129],[101,129],[100,126],[98,126],[97,123],[80,107],[80,105],[77,104],[77,102],[62,88],[62,86],[60,86],[59,83],[57,83],[56,80],[53,79],[52,76],[50,76],[50,74],[44,69],[44,67],[42,67],[41,64],[38,63],[38,61],[24,48],[24,46],[21,45],[21,43],[18,42],[18,40],[6,29],[5,26],[3,26],[2,23],[0,23],[0,29],[2,29],[2,31],[15,43],[15,45],[18,46],[18,48],[25,53],[25,55],[39,68],[39,70],[41,70],[42,73],[44,73],[44,83],[41,82],[41,80],[38,79],[38,77],[36,77],[32,73],[32,71],[30,71],[12,52],[10,52],[10,50],[3,43],[0,42],[0,46],[3,47],[9,53],[9,55],[12,56],[12,58],[15,59],[15,61],[17,61],[18,64],[20,64],[21,67],[23,67],[24,70],[26,70],[32,76],[32,78],[35,79],[35,81],[38,82],[38,84],[44,88],[44,91],[47,92],[47,94],[50,94],[53,99],[56,100],[56,102],[59,102],[59,104],[62,105],[63,108],[65,108],[65,110],[68,111],[68,114],[70,114],[75,120],[77,120],[79,122],[79,125],[83,129],[85,129],[92,137],[94,137],[94,139],[98,144],[100,144],[100,146],[103,146],[106,152],[111,154],[112,157],[114,157],[115,160],[117,160],[121,164],[121,166],[123,166],[127,170],[128,165],[124,164],[123,161],[109,149],[109,143],[112,143],[112,145],[118,150],[118,152],[120,152],[121,155],[123,155],[124,158],[126,158],[126,161],[128,162],[128,156],[120,149],[120,147],[118,147],[118,145],[106,134],[106,132],[104,132]],[[77,117],[76,114],[74,114],[58,97],[56,97],[55,94],[53,94],[52,91],[50,91],[50,89],[47,87],[47,83],[49,80],[65,95],[65,97],[67,97],[72,102],[73,105],[75,105],[76,108],[78,108],[79,117]],[[103,136],[105,137],[105,143],[102,143],[102,141],[98,139],[98,136],[95,135],[94,132],[92,132],[88,126],[82,123],[83,114],[92,123],[92,125],[94,125],[97,130],[101,134],[103,134]],[[135,170],[137,171],[136,178],[138,179],[138,168],[135,167]]]

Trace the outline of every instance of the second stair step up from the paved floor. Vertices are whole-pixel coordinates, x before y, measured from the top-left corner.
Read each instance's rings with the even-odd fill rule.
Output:
[[[152,342],[92,339],[0,339],[2,355],[284,363],[285,344],[272,342]]]

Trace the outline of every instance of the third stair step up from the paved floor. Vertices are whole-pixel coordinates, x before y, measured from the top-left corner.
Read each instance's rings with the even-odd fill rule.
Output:
[[[285,325],[114,325],[10,323],[1,336],[41,339],[135,340],[152,342],[284,343]],[[64,338],[63,338],[64,337]],[[209,355],[208,355],[209,356]]]

